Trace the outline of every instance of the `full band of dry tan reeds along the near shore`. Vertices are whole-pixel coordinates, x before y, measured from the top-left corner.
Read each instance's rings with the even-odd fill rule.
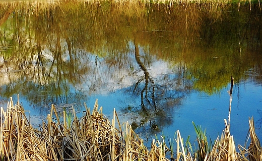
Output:
[[[261,160],[262,157],[253,118],[249,118],[245,145],[237,146],[240,152],[230,135],[229,118],[214,143],[208,141],[201,126],[193,123],[198,145],[193,146],[189,136],[184,141],[177,130],[173,140],[161,136],[159,140],[153,139],[148,148],[128,122],[120,124],[115,110],[110,122],[97,100],[93,110],[86,105],[85,108],[85,114],[77,118],[74,107],[72,112],[59,114],[52,105],[46,121],[35,129],[19,103],[19,96],[16,105],[11,98],[7,110],[1,108],[1,160]]]

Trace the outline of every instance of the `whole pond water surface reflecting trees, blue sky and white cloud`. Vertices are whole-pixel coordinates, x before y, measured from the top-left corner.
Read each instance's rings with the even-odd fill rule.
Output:
[[[253,116],[262,139],[258,5],[35,3],[1,4],[0,106],[19,94],[36,126],[51,104],[81,116],[98,99],[148,140],[179,129],[193,142],[192,121],[215,140],[232,75],[231,135],[244,145]]]

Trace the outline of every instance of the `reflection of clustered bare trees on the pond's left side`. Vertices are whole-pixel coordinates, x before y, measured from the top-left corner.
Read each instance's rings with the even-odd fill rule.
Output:
[[[33,21],[24,20],[23,12],[26,11],[13,14],[15,32],[2,30],[7,37],[2,39],[2,44],[7,46],[3,55],[4,70],[9,77],[8,84],[1,88],[2,96],[9,98],[21,94],[35,107],[53,103],[72,104],[86,98],[74,87],[80,81],[79,55],[69,41],[68,49],[62,50],[64,44],[61,44],[59,23],[49,24],[54,20],[48,15],[32,15]]]

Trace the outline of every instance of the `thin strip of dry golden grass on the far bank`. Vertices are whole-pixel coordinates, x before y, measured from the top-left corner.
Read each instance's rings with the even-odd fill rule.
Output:
[[[241,4],[241,5],[251,5],[251,4],[259,4],[260,0],[24,0],[24,1],[0,1],[0,5],[4,6],[12,6],[12,8],[16,8],[17,6],[27,4],[27,7],[33,8],[35,11],[41,11],[50,9],[53,7],[59,6],[61,3],[95,3],[95,4],[116,4],[118,7],[125,7],[125,9],[133,9],[141,6],[147,5],[159,5],[164,4],[169,7],[175,6],[184,6],[190,4],[201,4],[201,6],[211,7],[211,8],[221,8],[225,5],[229,4]],[[101,5],[102,6],[102,5]],[[250,6],[251,7],[251,6]],[[124,10],[125,10],[124,9]]]

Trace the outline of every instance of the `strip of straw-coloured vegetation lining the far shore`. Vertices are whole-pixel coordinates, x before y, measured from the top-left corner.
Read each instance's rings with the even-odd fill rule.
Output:
[[[14,1],[0,1],[0,6],[9,9],[15,9],[17,7],[26,7],[28,12],[32,10],[36,13],[46,12],[51,8],[56,8],[62,4],[70,4],[70,3],[78,3],[78,4],[97,4],[100,7],[103,7],[105,4],[107,5],[116,5],[117,8],[121,11],[125,11],[126,9],[132,10],[131,13],[136,14],[135,12],[140,10],[141,8],[150,8],[152,6],[157,5],[165,5],[167,9],[172,10],[177,6],[188,7],[190,4],[199,5],[199,8],[203,8],[204,10],[220,10],[223,7],[227,7],[228,5],[237,4],[238,7],[240,5],[248,5],[250,10],[252,5],[258,5],[260,7],[260,0],[14,0]],[[134,11],[133,11],[134,10]],[[130,12],[130,11],[128,11]],[[149,11],[148,11],[149,12]],[[170,12],[170,11],[169,11]],[[1,14],[1,13],[0,13]]]

